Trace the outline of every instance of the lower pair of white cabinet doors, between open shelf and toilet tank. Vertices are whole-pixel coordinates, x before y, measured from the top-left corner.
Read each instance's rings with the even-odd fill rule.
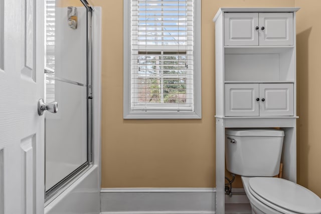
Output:
[[[225,116],[293,116],[293,84],[225,84]]]

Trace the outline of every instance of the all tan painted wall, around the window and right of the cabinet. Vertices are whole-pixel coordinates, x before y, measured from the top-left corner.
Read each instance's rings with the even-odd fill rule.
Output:
[[[79,0],[61,1],[60,7]],[[319,0],[202,1],[202,120],[122,119],[122,1],[103,10],[102,187],[214,187],[214,23],[220,7],[300,7],[297,13],[297,178],[321,196]],[[67,5],[66,5],[67,4]],[[163,133],[167,133],[164,135]],[[238,179],[233,185],[241,186]]]

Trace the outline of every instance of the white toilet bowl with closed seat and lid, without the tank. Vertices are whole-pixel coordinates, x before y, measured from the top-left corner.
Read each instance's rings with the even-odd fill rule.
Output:
[[[241,179],[252,213],[321,213],[321,199],[294,182],[276,177],[241,176]]]

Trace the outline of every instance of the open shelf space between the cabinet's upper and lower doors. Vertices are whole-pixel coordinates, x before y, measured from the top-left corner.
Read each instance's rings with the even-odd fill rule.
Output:
[[[293,48],[225,48],[225,81],[293,82]]]

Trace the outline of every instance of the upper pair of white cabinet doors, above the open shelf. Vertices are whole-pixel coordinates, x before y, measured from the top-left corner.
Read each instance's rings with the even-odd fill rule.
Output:
[[[226,46],[293,45],[293,13],[225,13]]]

